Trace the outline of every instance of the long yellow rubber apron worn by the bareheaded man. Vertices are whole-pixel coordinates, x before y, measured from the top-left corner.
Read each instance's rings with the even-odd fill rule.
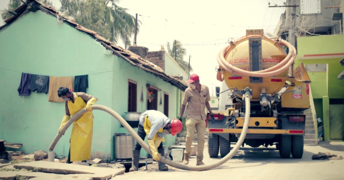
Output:
[[[73,93],[74,103],[68,101],[71,116],[86,107],[86,103],[76,93]],[[71,161],[84,161],[91,158],[91,145],[93,134],[93,114],[87,112],[74,121],[71,135]]]

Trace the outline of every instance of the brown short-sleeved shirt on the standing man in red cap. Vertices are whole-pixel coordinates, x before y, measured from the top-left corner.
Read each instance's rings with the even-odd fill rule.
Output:
[[[186,118],[206,119],[205,102],[210,100],[209,89],[206,85],[201,84],[201,93],[190,87],[185,89],[182,104],[186,105]]]

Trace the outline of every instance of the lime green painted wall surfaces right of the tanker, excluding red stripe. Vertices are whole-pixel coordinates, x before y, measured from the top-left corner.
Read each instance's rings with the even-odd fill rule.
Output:
[[[298,57],[310,54],[333,54],[344,52],[344,35],[298,37]],[[317,117],[324,122],[324,140],[330,140],[329,99],[344,98],[344,81],[337,76],[344,70],[342,58],[295,60],[295,67],[303,64],[327,64],[326,72],[308,72]]]

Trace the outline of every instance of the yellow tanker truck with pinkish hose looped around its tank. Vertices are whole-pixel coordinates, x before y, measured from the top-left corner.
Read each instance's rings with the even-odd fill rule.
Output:
[[[281,158],[290,154],[302,158],[303,111],[310,107],[310,79],[302,63],[293,66],[295,47],[280,37],[264,36],[263,30],[246,30],[246,36],[228,43],[217,55],[217,80],[228,87],[220,89],[228,94],[220,94],[227,98],[220,101],[231,99],[232,103],[213,110],[215,122],[208,123],[210,157],[229,153],[230,143],[237,142],[246,119],[246,145],[276,145]]]

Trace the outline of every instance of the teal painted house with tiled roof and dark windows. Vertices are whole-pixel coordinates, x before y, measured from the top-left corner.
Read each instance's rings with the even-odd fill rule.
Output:
[[[0,27],[0,139],[23,143],[20,150],[25,153],[47,151],[65,114],[64,102],[49,102],[48,94],[19,96],[22,73],[88,75],[86,93],[98,98],[96,104],[108,106],[122,117],[125,112],[142,113],[147,108],[168,113],[170,119],[176,117],[180,94],[187,87],[184,81],[69,17],[61,18],[54,9],[27,2],[31,2],[30,9],[23,4],[15,10],[17,15]],[[178,65],[171,64],[171,74],[174,68],[180,71]],[[155,93],[152,103],[157,105],[148,103],[149,89]],[[92,158],[110,160],[114,157],[114,133],[127,131],[109,114],[98,110],[93,114]],[[68,155],[71,129],[54,149],[58,156]],[[167,135],[165,145],[174,142],[175,137]],[[146,152],[142,149],[141,154]]]

